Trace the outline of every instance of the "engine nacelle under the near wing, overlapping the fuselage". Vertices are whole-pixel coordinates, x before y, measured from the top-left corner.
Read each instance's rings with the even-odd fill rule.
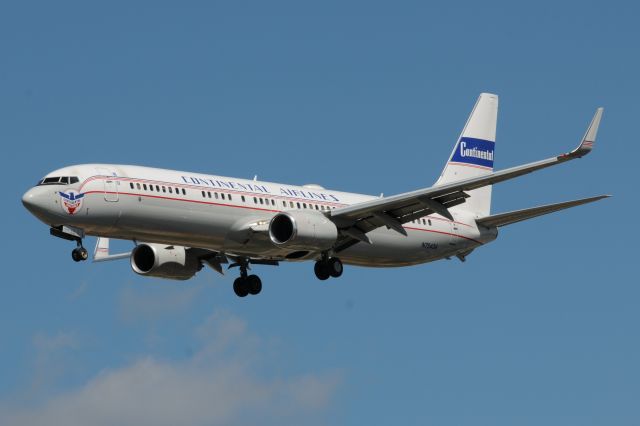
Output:
[[[269,238],[283,248],[327,250],[338,239],[338,228],[320,212],[291,210],[278,213],[271,219]]]

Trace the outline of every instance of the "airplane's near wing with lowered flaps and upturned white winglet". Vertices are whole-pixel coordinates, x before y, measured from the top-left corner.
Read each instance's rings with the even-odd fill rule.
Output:
[[[452,219],[449,208],[465,202],[465,199],[469,197],[465,191],[504,182],[588,154],[592,150],[596,139],[602,111],[602,108],[596,110],[578,147],[566,154],[475,178],[365,201],[328,212],[330,218],[340,229],[341,234],[345,236],[338,242],[335,250],[344,250],[359,241],[369,243],[366,233],[381,226],[386,226],[406,235],[402,224],[419,217],[437,213]]]

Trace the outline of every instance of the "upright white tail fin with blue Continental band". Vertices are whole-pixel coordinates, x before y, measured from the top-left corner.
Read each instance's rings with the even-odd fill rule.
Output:
[[[456,141],[436,185],[475,178],[493,172],[498,121],[498,95],[481,93]],[[452,207],[483,217],[491,211],[491,186],[468,191],[464,204]]]

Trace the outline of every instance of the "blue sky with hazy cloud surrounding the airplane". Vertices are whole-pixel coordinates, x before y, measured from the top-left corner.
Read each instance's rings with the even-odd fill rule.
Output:
[[[640,290],[632,2],[4,2],[0,423],[635,425]],[[257,267],[187,283],[74,264],[20,196],[113,162],[387,195],[430,185],[478,93],[502,230],[465,264]],[[93,241],[89,241],[91,245]],[[126,245],[123,245],[126,247]]]

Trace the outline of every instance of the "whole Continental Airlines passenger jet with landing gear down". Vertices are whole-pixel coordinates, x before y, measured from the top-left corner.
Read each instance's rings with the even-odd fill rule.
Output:
[[[75,241],[73,260],[86,260],[85,236],[98,237],[94,261],[129,258],[137,274],[192,278],[204,265],[237,267],[239,297],[262,281],[252,265],[314,261],[318,279],[340,277],[343,265],[397,267],[457,257],[495,240],[498,229],[591,203],[599,195],[491,214],[492,185],[588,154],[602,118],[598,108],[572,151],[533,163],[493,169],[498,96],[482,93],[435,184],[389,197],[319,185],[288,184],[157,168],[82,164],[47,174],[22,197],[53,236]],[[109,254],[109,239],[133,241]]]

